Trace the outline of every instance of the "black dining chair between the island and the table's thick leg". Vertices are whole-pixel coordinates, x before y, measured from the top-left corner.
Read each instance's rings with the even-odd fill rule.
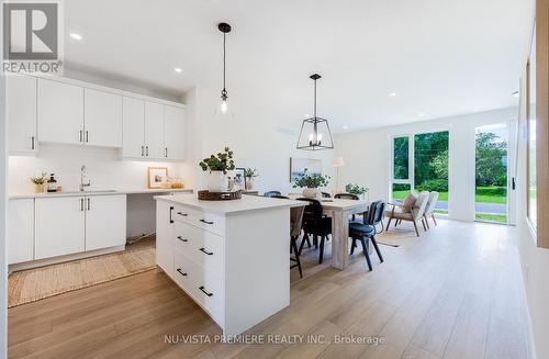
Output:
[[[303,213],[304,235],[300,246],[300,254],[303,250],[305,240],[309,239],[309,235],[313,235],[314,238],[321,237],[320,244],[315,240],[315,246],[317,245],[321,249],[318,254],[318,263],[322,263],[324,259],[324,242],[327,236],[332,234],[332,218],[322,215],[323,209],[321,201],[305,198],[300,198],[298,200],[309,202]]]

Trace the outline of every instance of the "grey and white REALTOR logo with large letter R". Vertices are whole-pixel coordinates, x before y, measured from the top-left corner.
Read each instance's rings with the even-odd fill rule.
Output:
[[[3,64],[9,72],[58,74],[63,69],[60,3],[3,3]]]

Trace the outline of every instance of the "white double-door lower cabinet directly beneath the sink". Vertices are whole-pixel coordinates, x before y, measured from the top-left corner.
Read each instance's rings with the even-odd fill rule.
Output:
[[[125,220],[125,194],[37,198],[34,259],[122,246]]]

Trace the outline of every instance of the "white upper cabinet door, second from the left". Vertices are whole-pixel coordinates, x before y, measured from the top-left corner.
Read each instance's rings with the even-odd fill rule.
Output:
[[[38,139],[83,143],[83,88],[38,79]]]

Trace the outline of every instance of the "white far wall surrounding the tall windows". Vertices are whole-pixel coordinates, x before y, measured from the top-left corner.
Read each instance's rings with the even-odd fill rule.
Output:
[[[336,135],[336,153],[345,160],[339,169],[339,183],[341,187],[349,182],[367,186],[370,199],[388,200],[391,137],[449,131],[449,217],[474,221],[474,130],[493,123],[516,123],[516,120],[517,109],[503,109]]]

